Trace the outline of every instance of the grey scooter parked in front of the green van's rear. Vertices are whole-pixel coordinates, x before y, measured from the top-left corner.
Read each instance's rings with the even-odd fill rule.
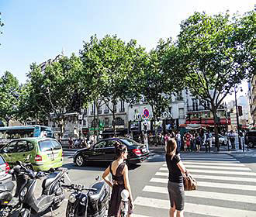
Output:
[[[24,174],[19,180],[17,179],[17,186],[20,186],[19,202],[22,205],[19,217],[29,217],[31,213],[40,215],[47,208],[52,211],[52,208],[57,208],[61,205],[65,198],[61,182],[64,182],[64,175],[67,175],[67,169],[51,170],[50,173],[42,171],[35,173],[21,162],[17,161],[17,164]],[[39,198],[35,198],[37,179],[46,175],[48,176],[43,180],[42,195]]]

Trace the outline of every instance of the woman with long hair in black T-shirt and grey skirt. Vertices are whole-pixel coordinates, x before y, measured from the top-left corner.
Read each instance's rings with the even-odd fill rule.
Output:
[[[169,216],[183,217],[185,201],[183,175],[187,173],[187,171],[182,164],[179,154],[176,154],[176,150],[176,141],[173,139],[168,140],[165,158],[169,171],[168,192],[171,202]]]

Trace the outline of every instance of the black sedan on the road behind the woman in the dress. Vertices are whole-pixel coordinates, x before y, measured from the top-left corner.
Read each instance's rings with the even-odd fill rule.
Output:
[[[109,138],[95,143],[94,146],[78,150],[74,153],[74,164],[81,167],[88,161],[112,161],[116,159],[116,142],[123,143],[127,146],[128,157],[126,164],[137,164],[147,159],[149,151],[147,146],[137,143],[128,138]]]

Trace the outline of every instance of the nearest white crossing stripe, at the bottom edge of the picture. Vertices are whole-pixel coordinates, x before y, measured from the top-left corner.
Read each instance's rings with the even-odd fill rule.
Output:
[[[142,205],[153,208],[170,208],[170,202],[168,200],[161,200],[156,198],[144,198],[137,197],[135,200],[135,205]],[[220,206],[213,205],[199,205],[192,203],[185,203],[185,212],[195,213],[199,215],[207,215],[207,216],[239,216],[239,217],[248,217],[248,216],[256,216],[255,211],[241,210],[237,208],[223,208]]]

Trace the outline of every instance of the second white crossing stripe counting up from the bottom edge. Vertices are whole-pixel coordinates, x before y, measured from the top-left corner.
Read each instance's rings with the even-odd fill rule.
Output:
[[[156,186],[146,185],[142,191],[168,194],[167,187],[156,187]],[[185,196],[216,199],[216,200],[223,200],[223,201],[230,201],[230,202],[247,202],[247,203],[256,204],[256,197],[247,196],[247,195],[233,195],[233,194],[218,193],[218,192],[211,192],[211,191],[185,191]]]

